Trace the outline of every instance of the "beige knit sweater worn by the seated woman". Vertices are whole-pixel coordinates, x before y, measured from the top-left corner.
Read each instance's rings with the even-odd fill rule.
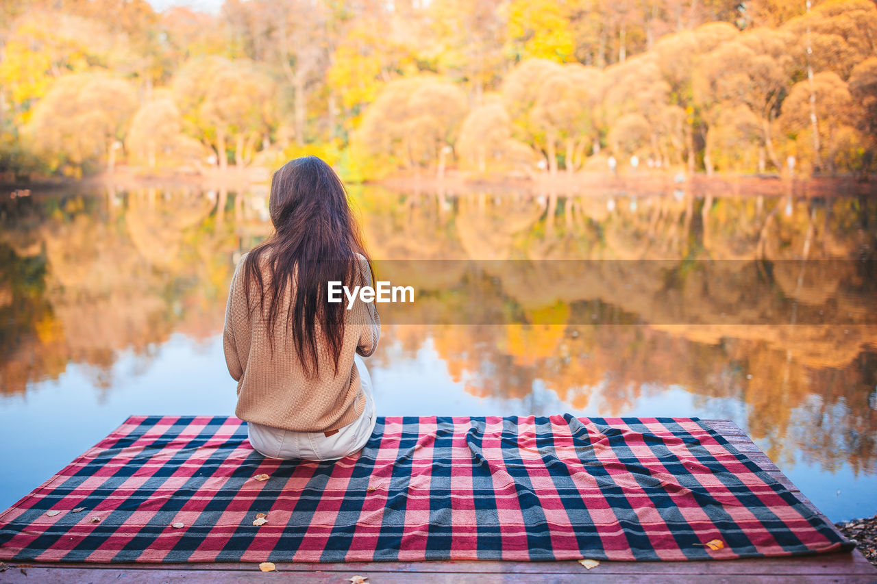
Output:
[[[261,262],[266,286],[270,285],[267,255],[263,254]],[[232,276],[223,331],[225,363],[234,380],[238,381],[235,415],[246,422],[292,431],[328,431],[350,424],[366,407],[353,354],[368,357],[374,353],[381,335],[381,319],[374,303],[363,303],[357,298],[353,308],[344,311],[345,331],[339,374],[334,375],[331,354],[318,351],[319,379],[309,379],[296,355],[292,333],[285,331],[286,311],[295,294],[294,285],[287,286],[282,311],[277,318],[272,359],[267,322],[258,308],[260,291],[255,281],[250,282],[250,302],[256,303],[257,308],[252,316],[248,316],[243,282],[244,258],[246,253]],[[353,285],[373,286],[367,261],[361,255],[358,268]],[[343,306],[346,308],[346,298]]]

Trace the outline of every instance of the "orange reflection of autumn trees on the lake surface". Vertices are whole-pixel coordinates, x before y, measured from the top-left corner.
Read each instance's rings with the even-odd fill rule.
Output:
[[[4,395],[23,396],[73,364],[98,391],[112,392],[121,353],[146,369],[174,334],[210,343],[222,329],[234,262],[269,230],[266,197],[264,190],[110,189],[0,200]],[[772,284],[800,310],[832,307],[852,315],[852,324],[721,324],[722,307],[760,310],[771,299],[747,294],[745,279],[718,286],[709,274],[695,274],[674,294],[711,324],[646,318],[626,325],[644,303],[663,310],[666,282],[658,275],[641,274],[645,284],[638,286],[627,276],[606,276],[577,298],[559,298],[562,287],[553,284],[563,273],[541,274],[543,287],[494,274],[520,310],[568,322],[574,302],[599,301],[601,310],[615,311],[601,312],[599,322],[622,324],[389,324],[373,363],[401,372],[401,363],[428,346],[453,381],[448,391],[460,387],[529,410],[518,413],[556,413],[538,410],[560,403],[606,416],[643,414],[639,404],[678,390],[695,401],[731,400],[744,407],[729,415],[778,464],[875,474],[877,326],[866,318],[873,274],[852,262],[839,274],[819,271],[816,262],[874,260],[873,201],[695,197],[682,190],[399,194],[374,187],[353,189],[352,198],[381,260],[795,260],[777,264]],[[460,274],[418,277],[439,286]],[[417,387],[416,377],[397,379]],[[175,390],[156,388],[157,402],[160,391]],[[544,395],[556,400],[539,397],[540,405]]]

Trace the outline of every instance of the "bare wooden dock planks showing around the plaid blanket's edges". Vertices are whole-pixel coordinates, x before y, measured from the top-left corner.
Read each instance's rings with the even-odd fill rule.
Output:
[[[729,420],[706,420],[738,450],[745,452],[811,509],[819,510],[780,472],[758,446]],[[819,513],[822,515],[821,513]],[[826,523],[832,524],[827,518]],[[818,556],[728,561],[609,562],[586,570],[578,562],[427,561],[341,564],[277,563],[277,571],[260,572],[257,564],[63,564],[15,563],[0,573],[0,583],[39,582],[305,582],[340,584],[353,575],[367,576],[369,584],[491,584],[493,582],[631,582],[679,584],[680,582],[862,582],[877,583],[877,568],[858,550]]]

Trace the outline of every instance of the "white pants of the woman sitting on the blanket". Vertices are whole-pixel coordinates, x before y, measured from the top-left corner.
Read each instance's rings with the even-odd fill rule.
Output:
[[[296,432],[263,424],[246,423],[250,444],[269,459],[337,460],[360,452],[374,431],[377,422],[372,392],[372,378],[359,355],[353,357],[359,369],[366,408],[360,417],[342,426],[332,436],[324,432]]]

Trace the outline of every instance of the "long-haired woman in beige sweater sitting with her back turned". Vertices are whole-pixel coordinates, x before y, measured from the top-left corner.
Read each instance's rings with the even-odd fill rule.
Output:
[[[344,185],[323,160],[290,160],[271,179],[275,232],[245,253],[225,309],[235,415],[275,459],[340,459],[374,430],[371,378],[381,320],[374,303],[329,303],[328,282],[372,286]]]

